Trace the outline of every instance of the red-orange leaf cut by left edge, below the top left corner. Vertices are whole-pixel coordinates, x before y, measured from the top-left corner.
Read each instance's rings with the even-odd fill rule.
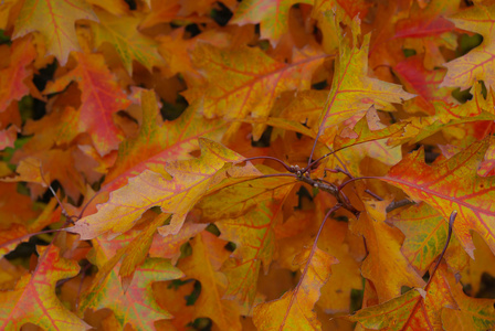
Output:
[[[12,100],[20,100],[29,93],[27,78],[32,70],[27,66],[36,56],[31,38],[15,40],[10,47],[10,65],[0,70],[0,113],[6,111]]]

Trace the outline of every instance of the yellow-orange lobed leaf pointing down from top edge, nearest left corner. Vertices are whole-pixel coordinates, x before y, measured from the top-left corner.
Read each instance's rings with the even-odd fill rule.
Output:
[[[39,31],[45,39],[48,53],[65,65],[69,54],[80,50],[74,23],[84,19],[98,20],[84,0],[27,0],[12,38]]]

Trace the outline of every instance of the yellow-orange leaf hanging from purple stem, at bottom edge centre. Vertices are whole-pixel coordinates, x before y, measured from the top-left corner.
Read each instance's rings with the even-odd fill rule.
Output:
[[[302,270],[307,264],[305,277],[282,298],[254,307],[253,322],[259,330],[320,330],[313,308],[322,286],[330,278],[330,266],[338,260],[316,247],[314,254],[310,254],[310,248],[301,252],[295,263],[302,266]]]

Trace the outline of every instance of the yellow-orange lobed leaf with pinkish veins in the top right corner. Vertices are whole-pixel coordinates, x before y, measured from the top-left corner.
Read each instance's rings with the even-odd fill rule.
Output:
[[[456,28],[482,34],[483,42],[466,55],[445,64],[447,73],[440,87],[456,86],[465,89],[474,85],[476,81],[484,81],[489,88],[495,87],[494,11],[493,4],[475,6],[449,18]]]

